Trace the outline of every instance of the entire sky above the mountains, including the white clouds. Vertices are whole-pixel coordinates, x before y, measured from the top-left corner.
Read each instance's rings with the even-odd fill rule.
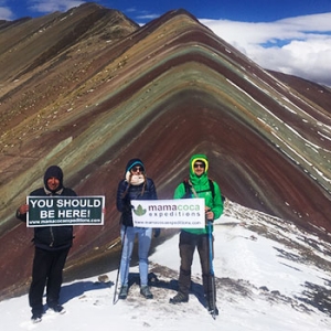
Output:
[[[0,0],[0,19],[66,11],[81,0]],[[139,24],[184,8],[265,68],[331,86],[331,0],[102,0]]]

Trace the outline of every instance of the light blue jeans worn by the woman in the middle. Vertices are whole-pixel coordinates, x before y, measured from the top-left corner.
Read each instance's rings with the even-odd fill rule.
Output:
[[[120,228],[122,244],[120,259],[120,282],[122,286],[128,285],[129,268],[136,235],[138,236],[140,286],[148,285],[148,253],[151,243],[152,228],[134,226],[127,226],[126,228],[126,226],[122,225]]]

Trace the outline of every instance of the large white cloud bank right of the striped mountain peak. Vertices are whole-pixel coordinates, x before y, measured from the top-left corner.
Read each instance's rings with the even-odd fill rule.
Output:
[[[265,68],[331,86],[331,13],[260,23],[200,21]]]

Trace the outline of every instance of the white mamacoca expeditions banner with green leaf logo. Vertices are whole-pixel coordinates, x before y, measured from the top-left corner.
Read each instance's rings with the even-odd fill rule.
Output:
[[[205,226],[204,199],[132,200],[131,205],[137,227]]]

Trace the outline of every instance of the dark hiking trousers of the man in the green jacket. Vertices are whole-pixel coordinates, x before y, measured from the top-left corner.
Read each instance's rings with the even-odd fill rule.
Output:
[[[212,297],[212,286],[214,282],[212,281],[213,276],[210,270],[210,243],[207,234],[195,235],[185,231],[181,232],[179,243],[181,257],[179,291],[184,296],[189,296],[191,288],[191,267],[195,247],[200,256],[203,290],[209,300]]]

